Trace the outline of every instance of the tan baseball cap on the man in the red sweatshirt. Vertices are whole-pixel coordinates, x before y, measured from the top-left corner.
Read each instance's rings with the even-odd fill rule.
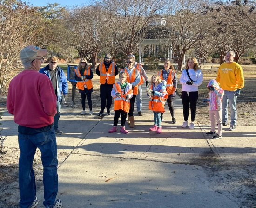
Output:
[[[34,45],[28,45],[20,51],[20,60],[24,62],[32,61],[37,56],[45,56],[47,49],[38,48]]]

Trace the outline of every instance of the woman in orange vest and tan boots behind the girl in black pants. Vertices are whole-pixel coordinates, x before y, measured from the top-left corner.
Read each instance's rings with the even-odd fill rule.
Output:
[[[134,102],[136,95],[138,94],[138,84],[141,80],[140,72],[134,67],[135,60],[133,57],[128,57],[126,61],[126,67],[121,69],[120,72],[124,71],[127,75],[127,81],[132,85],[133,88],[133,97],[130,99],[131,107],[128,113],[128,124],[130,128],[134,127]]]

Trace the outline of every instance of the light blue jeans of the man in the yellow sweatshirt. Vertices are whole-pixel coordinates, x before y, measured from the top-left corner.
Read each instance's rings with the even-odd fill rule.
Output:
[[[222,122],[225,123],[228,121],[228,103],[230,108],[230,125],[236,125],[236,98],[234,96],[234,91],[224,90],[224,96],[222,100]]]

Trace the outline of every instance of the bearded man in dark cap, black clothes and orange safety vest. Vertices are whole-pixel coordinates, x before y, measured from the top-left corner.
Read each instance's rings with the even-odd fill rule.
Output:
[[[118,75],[118,68],[115,62],[112,62],[111,56],[106,54],[104,61],[96,68],[96,74],[100,76],[100,97],[101,97],[101,111],[99,116],[104,114],[105,107],[107,108],[107,115],[111,115],[110,107],[112,105],[111,91],[113,84],[115,84],[115,76]]]

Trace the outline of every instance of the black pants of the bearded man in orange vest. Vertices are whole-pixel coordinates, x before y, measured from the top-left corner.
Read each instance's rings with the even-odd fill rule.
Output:
[[[110,110],[112,105],[112,91],[113,85],[103,85],[100,86],[100,97],[101,97],[101,111],[104,111],[105,107],[107,108],[107,111]],[[106,106],[107,102],[107,106]]]

